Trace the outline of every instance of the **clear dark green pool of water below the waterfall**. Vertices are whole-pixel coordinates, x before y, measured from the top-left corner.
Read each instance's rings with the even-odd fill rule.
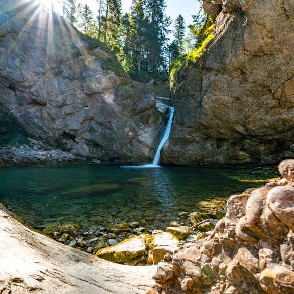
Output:
[[[176,213],[215,212],[232,194],[276,177],[252,170],[117,166],[29,166],[0,169],[0,202],[36,228],[146,220],[158,228]],[[146,178],[128,182],[132,178]]]

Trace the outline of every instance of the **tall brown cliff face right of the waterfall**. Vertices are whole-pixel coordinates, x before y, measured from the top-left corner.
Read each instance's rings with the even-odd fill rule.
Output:
[[[214,37],[173,78],[175,120],[163,160],[274,164],[294,153],[294,5],[205,0]],[[209,5],[208,5],[209,4]]]

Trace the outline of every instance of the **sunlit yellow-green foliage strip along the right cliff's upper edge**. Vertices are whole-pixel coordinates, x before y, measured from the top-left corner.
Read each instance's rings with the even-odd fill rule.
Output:
[[[198,42],[196,44],[196,48],[192,50],[186,56],[180,56],[174,63],[173,68],[170,73],[170,81],[171,87],[174,85],[174,81],[177,79],[178,72],[180,69],[187,68],[191,64],[194,64],[197,59],[204,54],[207,49],[208,44],[213,38],[213,30],[214,25],[211,25],[208,29],[204,30],[204,25],[198,31]]]

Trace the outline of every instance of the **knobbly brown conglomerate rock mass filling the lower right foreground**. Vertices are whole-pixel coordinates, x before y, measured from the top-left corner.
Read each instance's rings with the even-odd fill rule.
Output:
[[[294,292],[294,160],[289,181],[233,195],[215,231],[166,255],[148,293]]]

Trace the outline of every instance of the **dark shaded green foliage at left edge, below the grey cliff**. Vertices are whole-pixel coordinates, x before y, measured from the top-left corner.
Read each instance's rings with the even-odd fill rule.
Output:
[[[28,137],[14,116],[0,114],[0,145],[8,144],[28,144]]]

